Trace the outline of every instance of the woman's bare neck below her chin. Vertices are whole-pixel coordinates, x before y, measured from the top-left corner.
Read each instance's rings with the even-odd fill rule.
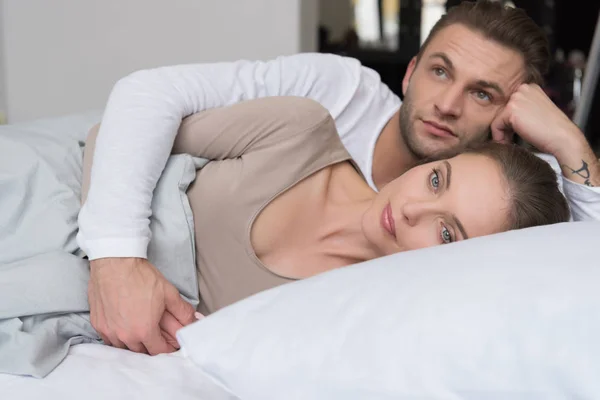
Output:
[[[378,256],[363,233],[363,216],[376,192],[350,163],[333,167],[317,240],[322,254],[348,263]]]

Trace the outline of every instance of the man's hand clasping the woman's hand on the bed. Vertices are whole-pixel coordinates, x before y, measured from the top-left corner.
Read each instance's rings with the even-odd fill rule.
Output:
[[[150,262],[103,258],[90,271],[90,318],[106,344],[151,355],[179,348],[175,333],[195,310]]]

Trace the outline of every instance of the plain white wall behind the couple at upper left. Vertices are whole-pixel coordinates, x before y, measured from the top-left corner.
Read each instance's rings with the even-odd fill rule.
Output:
[[[9,122],[102,108],[116,80],[137,69],[317,46],[317,0],[0,2]]]

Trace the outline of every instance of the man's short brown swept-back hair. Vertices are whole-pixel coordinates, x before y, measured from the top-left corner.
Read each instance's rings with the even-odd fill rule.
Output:
[[[463,1],[450,8],[434,25],[421,46],[417,60],[439,31],[454,24],[461,24],[519,52],[525,61],[525,83],[543,84],[550,63],[550,49],[544,31],[524,10],[503,6],[500,2]]]

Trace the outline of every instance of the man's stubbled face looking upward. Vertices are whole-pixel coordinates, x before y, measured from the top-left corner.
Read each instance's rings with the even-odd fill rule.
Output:
[[[402,82],[400,130],[408,149],[435,157],[486,140],[524,72],[517,51],[460,24],[442,29]]]

